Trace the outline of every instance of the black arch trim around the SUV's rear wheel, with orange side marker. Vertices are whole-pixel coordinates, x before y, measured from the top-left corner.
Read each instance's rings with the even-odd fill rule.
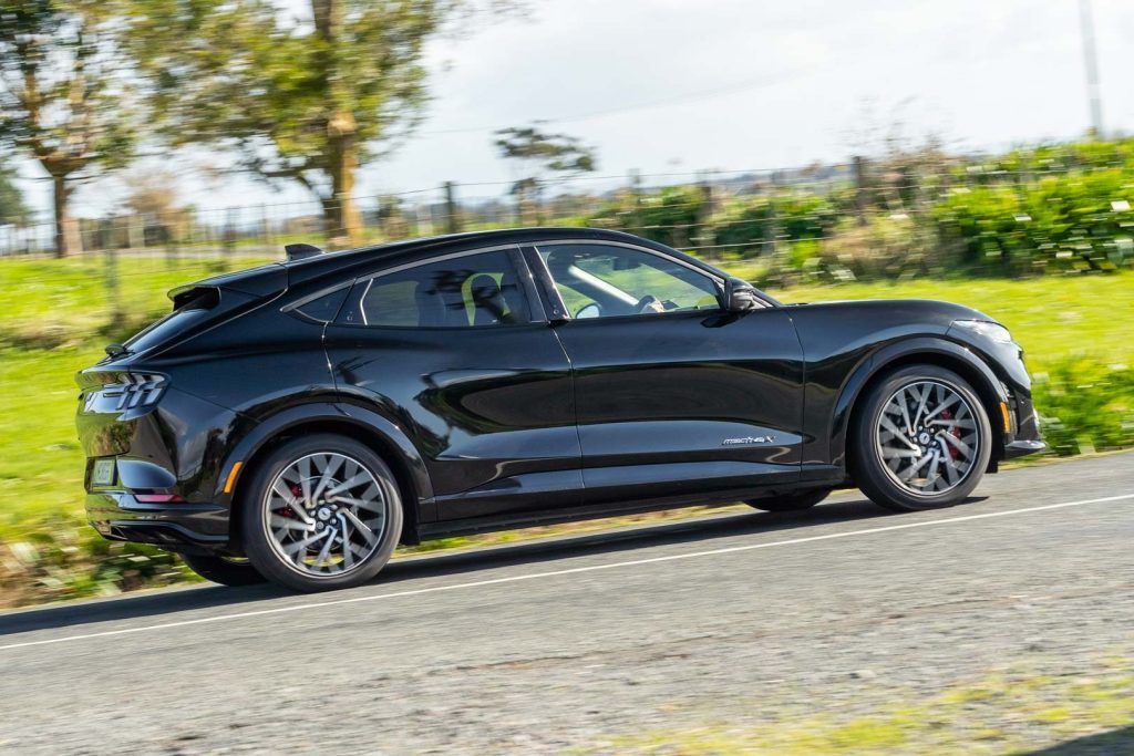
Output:
[[[346,415],[336,405],[307,405],[291,408],[257,423],[228,453],[218,479],[214,500],[229,509],[229,536],[242,543],[239,501],[243,487],[252,479],[256,466],[279,444],[311,433],[335,433],[354,439],[379,455],[397,481],[403,499],[405,526],[403,543],[417,542],[417,525],[432,519],[429,510],[433,499],[425,461],[413,442],[389,419],[370,411]],[[232,467],[239,462],[234,485],[226,492]]]

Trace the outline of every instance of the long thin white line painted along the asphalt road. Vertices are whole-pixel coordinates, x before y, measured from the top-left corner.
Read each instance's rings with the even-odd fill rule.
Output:
[[[549,572],[532,572],[530,575],[513,575],[502,578],[490,578],[488,580],[473,580],[471,583],[458,583],[455,585],[439,585],[428,588],[412,588],[408,591],[396,591],[383,593],[376,596],[355,596],[353,598],[336,598],[332,601],[316,601],[306,604],[294,604],[290,606],[277,606],[274,609],[260,609],[251,612],[236,612],[234,614],[221,614],[219,617],[202,617],[195,620],[181,620],[179,622],[164,622],[162,625],[146,625],[135,628],[122,628],[119,630],[103,630],[101,632],[85,632],[83,635],[65,636],[62,638],[48,638],[45,640],[27,640],[24,643],[11,643],[0,646],[0,651],[11,651],[14,648],[27,648],[29,646],[46,646],[57,643],[69,643],[73,640],[88,640],[91,638],[109,638],[119,635],[130,635],[134,632],[151,632],[154,630],[169,630],[171,628],[189,627],[193,625],[209,625],[212,622],[226,622],[229,620],[246,619],[249,617],[265,617],[269,614],[284,614],[286,612],[298,612],[308,609],[322,609],[324,606],[340,606],[344,604],[357,604],[370,601],[384,601],[388,598],[401,598],[404,596],[420,596],[428,593],[441,593],[445,591],[460,591],[464,588],[480,588],[489,585],[502,585],[505,583],[519,583],[522,580],[538,580],[541,578],[560,577],[564,575],[578,575],[581,572],[596,572],[599,570],[611,570],[623,567],[637,567],[640,564],[657,564],[659,562],[676,562],[684,559],[697,559],[701,557],[717,557],[720,554],[733,554],[741,551],[755,551],[756,549],[771,549],[773,546],[790,546],[801,543],[814,543],[818,541],[832,541],[835,538],[849,538],[860,535],[874,535],[875,533],[890,533],[892,530],[907,530],[911,528],[930,527],[934,525],[951,525],[954,523],[968,523],[972,520],[991,519],[993,517],[1008,517],[1012,515],[1027,515],[1031,512],[1042,512],[1052,509],[1066,509],[1068,507],[1083,507],[1085,504],[1101,504],[1111,501],[1124,501],[1134,499],[1134,493],[1125,493],[1117,496],[1103,496],[1100,499],[1082,499],[1080,501],[1065,501],[1058,504],[1042,504],[1039,507],[1025,507],[1023,509],[1008,509],[1000,512],[983,512],[981,515],[963,515],[960,517],[948,517],[939,520],[923,520],[920,523],[903,523],[902,525],[883,525],[875,528],[863,528],[861,530],[844,530],[840,533],[827,533],[823,535],[811,535],[801,538],[788,538],[786,541],[771,541],[765,543],[748,543],[739,546],[725,546],[722,549],[710,549],[706,551],[685,552],[680,554],[667,554],[665,557],[650,557],[646,559],[633,559],[625,562],[608,562],[606,564],[587,564],[585,567],[572,567],[564,570],[551,570]],[[0,615],[2,619],[2,615]]]

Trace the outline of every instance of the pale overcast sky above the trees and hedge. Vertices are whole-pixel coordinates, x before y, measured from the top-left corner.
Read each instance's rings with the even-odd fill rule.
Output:
[[[1105,125],[1131,130],[1134,2],[1093,8]],[[508,180],[491,131],[538,119],[596,147],[600,173],[618,176],[845,160],[895,120],[962,150],[1089,126],[1078,0],[532,0],[526,20],[440,40],[429,62],[425,124],[363,170],[359,196]],[[200,158],[176,163],[184,199],[200,206],[307,198],[194,178]],[[49,206],[45,181],[24,187]],[[77,210],[120,196],[112,179],[98,182]]]

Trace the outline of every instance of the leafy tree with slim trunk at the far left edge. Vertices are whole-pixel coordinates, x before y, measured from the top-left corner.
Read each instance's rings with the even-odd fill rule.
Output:
[[[134,143],[120,25],[100,0],[0,2],[0,141],[51,177],[56,254],[77,244],[77,181],[129,160]]]

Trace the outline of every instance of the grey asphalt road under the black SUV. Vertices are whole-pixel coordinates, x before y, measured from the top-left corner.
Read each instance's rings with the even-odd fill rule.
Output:
[[[1116,455],[990,476],[934,512],[843,494],[405,560],[318,596],[73,603],[0,614],[0,750],[601,749],[1010,660],[1082,672],[1131,647],[1132,577],[1134,455]]]

